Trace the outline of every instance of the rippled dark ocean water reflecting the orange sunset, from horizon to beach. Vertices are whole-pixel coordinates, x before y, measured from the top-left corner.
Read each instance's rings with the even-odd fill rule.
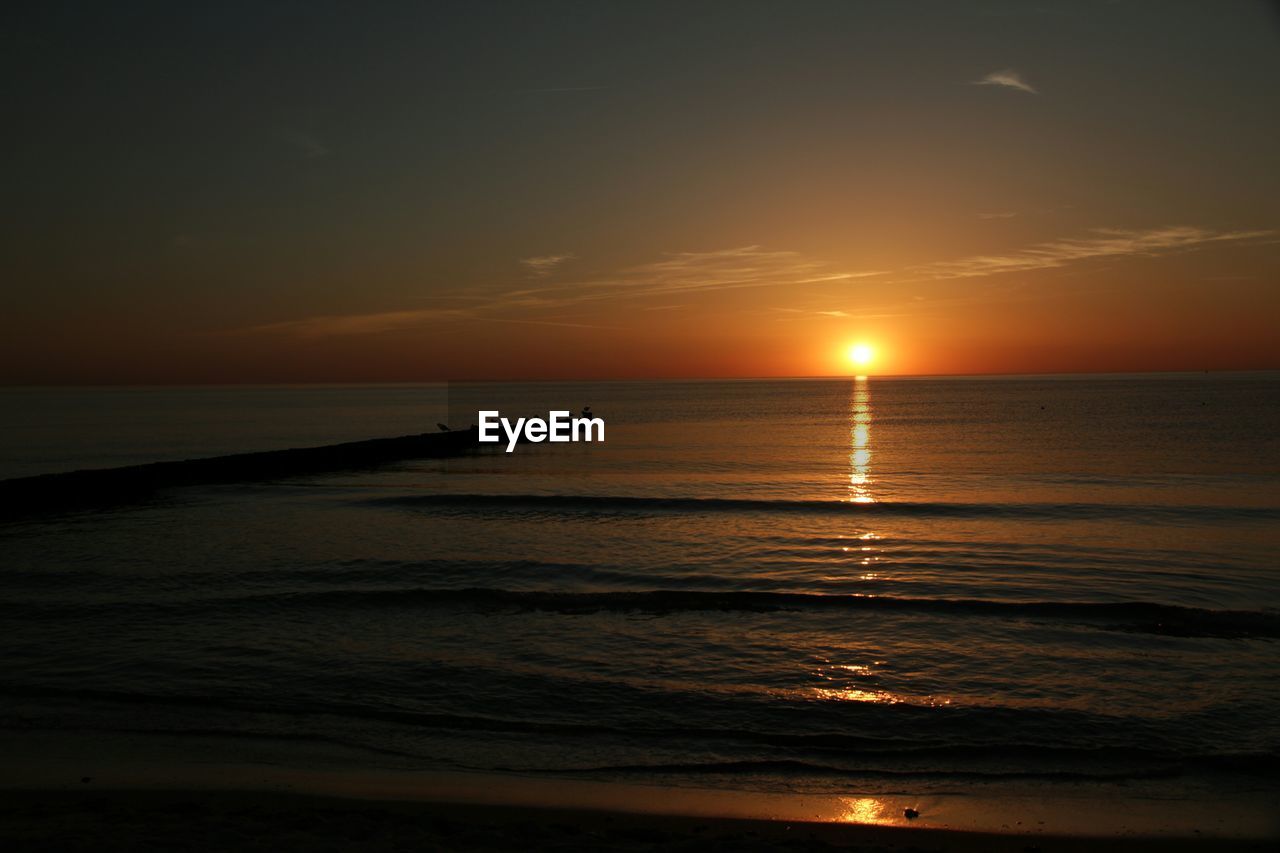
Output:
[[[0,524],[10,731],[782,792],[1280,767],[1275,374],[0,396],[8,475],[607,423]]]

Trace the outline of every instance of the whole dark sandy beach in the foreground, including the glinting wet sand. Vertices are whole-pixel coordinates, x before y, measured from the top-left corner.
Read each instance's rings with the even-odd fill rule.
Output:
[[[0,736],[0,845],[69,850],[1253,850],[1275,794],[762,792],[388,771],[214,738]],[[906,817],[906,809],[916,812]]]

